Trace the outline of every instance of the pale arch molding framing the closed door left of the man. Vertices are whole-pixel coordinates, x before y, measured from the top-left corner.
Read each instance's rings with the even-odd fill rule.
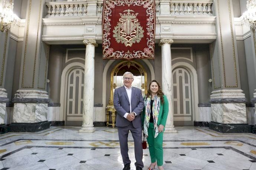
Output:
[[[81,62],[73,62],[67,65],[61,74],[61,84],[60,84],[60,120],[65,120],[66,119],[66,114],[64,113],[64,107],[66,103],[66,98],[65,98],[65,89],[66,89],[66,82],[68,79],[68,74],[73,68],[80,67],[82,69],[85,68],[85,65],[82,64]]]

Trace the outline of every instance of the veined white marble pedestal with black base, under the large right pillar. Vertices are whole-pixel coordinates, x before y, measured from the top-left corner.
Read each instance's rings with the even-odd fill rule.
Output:
[[[218,90],[211,95],[209,129],[222,133],[251,133],[246,118],[246,98],[242,90]]]

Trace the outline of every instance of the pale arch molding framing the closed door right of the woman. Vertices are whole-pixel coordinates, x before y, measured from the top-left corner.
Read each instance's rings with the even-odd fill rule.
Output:
[[[192,105],[193,105],[193,119],[195,121],[199,121],[199,108],[198,108],[198,83],[197,83],[197,72],[196,69],[186,63],[186,62],[177,62],[171,66],[172,71],[177,67],[183,67],[188,70],[191,75],[191,86],[192,86]]]

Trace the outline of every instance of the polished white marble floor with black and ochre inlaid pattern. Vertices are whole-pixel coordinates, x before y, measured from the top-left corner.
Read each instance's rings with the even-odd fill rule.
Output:
[[[0,135],[0,170],[122,170],[116,128],[56,126],[37,133]],[[256,135],[223,134],[201,127],[176,127],[164,134],[165,170],[256,170]],[[134,144],[128,137],[131,169]],[[150,164],[143,150],[144,170]]]

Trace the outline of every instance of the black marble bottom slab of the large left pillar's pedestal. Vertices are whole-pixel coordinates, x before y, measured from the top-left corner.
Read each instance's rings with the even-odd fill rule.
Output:
[[[38,123],[11,123],[8,126],[8,132],[38,132],[50,128],[50,122]]]

